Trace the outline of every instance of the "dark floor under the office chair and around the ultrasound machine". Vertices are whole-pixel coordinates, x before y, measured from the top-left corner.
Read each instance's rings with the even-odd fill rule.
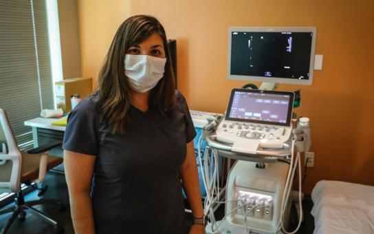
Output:
[[[61,198],[65,204],[69,204],[69,195],[67,193],[67,185],[65,181],[65,176],[58,173],[47,173],[45,184],[48,184],[49,188],[44,195],[44,198]],[[32,191],[25,196],[25,200],[34,200],[38,199],[38,191]],[[303,222],[300,230],[297,233],[309,234],[313,233],[314,230],[314,218],[310,215],[311,207],[313,203],[311,199],[306,197],[303,201],[304,213],[305,213],[305,222]],[[70,217],[69,207],[65,211],[59,211],[54,205],[39,205],[35,206],[36,209],[39,209],[47,215],[50,215],[52,219],[56,220],[64,229],[65,234],[74,233],[72,226],[72,219]],[[217,211],[217,217],[223,215],[223,207]],[[34,233],[34,234],[47,234],[55,233],[52,225],[47,224],[39,217],[36,217],[30,212],[26,212],[26,220],[20,222],[15,220],[8,233],[12,234],[23,234],[23,233]],[[0,228],[2,228],[8,220],[9,215],[0,215]],[[294,224],[296,226],[296,224]]]

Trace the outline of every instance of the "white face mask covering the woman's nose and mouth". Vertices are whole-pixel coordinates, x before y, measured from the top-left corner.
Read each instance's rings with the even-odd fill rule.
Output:
[[[129,77],[132,89],[144,93],[155,87],[164,76],[165,63],[166,58],[126,54],[124,74]]]

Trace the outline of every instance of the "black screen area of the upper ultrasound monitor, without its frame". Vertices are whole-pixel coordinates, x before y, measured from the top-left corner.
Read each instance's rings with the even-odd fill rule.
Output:
[[[232,32],[230,74],[309,79],[312,32]]]

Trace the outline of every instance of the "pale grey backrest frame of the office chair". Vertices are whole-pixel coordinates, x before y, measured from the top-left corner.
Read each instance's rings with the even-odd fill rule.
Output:
[[[0,108],[0,144],[2,143],[5,143],[7,147],[7,153],[0,154],[0,160],[6,160],[5,164],[0,165],[0,188],[19,192],[21,190],[22,156],[10,128],[8,117]]]

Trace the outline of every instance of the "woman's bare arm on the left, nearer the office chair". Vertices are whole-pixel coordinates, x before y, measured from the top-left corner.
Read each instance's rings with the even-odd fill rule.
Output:
[[[91,179],[96,156],[64,150],[64,166],[69,189],[70,209],[76,234],[94,234]]]

